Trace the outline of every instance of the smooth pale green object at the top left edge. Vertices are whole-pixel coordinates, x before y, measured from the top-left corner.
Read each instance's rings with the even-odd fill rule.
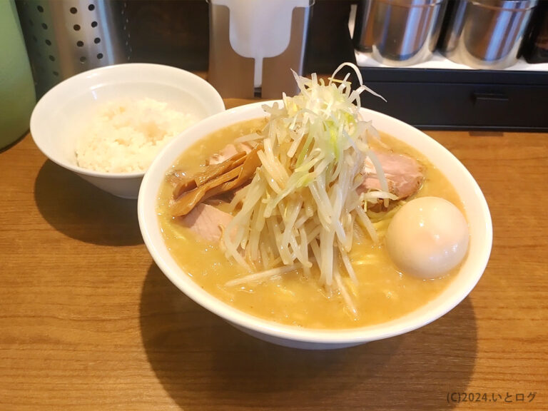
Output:
[[[14,0],[0,0],[0,149],[29,130],[34,81]]]

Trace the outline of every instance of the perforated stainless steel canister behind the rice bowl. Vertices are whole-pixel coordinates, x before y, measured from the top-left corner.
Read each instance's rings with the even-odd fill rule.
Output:
[[[18,0],[36,94],[90,68],[127,62],[126,1]]]

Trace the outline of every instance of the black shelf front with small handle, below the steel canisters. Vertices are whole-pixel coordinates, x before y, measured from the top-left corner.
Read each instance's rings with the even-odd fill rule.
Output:
[[[387,99],[362,106],[418,128],[548,131],[548,72],[360,68]]]

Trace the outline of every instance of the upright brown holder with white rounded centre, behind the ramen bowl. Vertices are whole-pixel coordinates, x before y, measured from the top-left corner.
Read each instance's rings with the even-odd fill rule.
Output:
[[[223,97],[280,98],[303,72],[313,0],[209,0],[208,80]],[[260,89],[260,91],[259,91]]]

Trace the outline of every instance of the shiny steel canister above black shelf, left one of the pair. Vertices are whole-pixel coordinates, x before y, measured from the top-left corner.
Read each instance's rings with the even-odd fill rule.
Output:
[[[445,5],[445,0],[362,0],[355,47],[389,66],[426,61],[435,50]]]

